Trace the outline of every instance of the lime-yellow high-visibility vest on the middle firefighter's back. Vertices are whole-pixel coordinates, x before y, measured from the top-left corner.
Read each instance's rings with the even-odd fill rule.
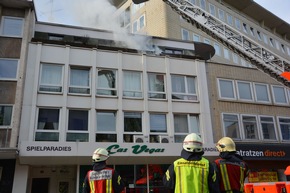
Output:
[[[209,193],[209,161],[207,159],[187,161],[180,158],[174,162],[174,172],[176,175],[174,193]]]

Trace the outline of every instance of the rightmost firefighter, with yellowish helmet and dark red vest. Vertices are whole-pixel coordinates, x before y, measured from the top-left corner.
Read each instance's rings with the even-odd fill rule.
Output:
[[[221,193],[244,192],[244,182],[249,169],[243,158],[236,153],[235,142],[229,137],[223,137],[217,142],[216,148],[220,152],[220,158],[215,160],[215,164]]]

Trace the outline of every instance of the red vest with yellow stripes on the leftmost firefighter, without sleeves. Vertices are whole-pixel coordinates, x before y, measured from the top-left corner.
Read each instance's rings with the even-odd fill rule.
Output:
[[[100,171],[89,171],[87,178],[91,193],[114,193],[112,178],[114,170],[106,168]]]

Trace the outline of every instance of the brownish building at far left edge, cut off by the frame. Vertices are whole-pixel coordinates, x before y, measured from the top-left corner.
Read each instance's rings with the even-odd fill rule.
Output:
[[[0,1],[0,192],[11,192],[17,157],[31,1]]]

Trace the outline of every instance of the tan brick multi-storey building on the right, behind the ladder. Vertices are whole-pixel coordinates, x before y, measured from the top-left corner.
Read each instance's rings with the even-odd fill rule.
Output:
[[[271,176],[274,172],[276,180],[283,180],[281,171],[289,165],[290,159],[289,82],[288,87],[284,86],[277,81],[279,76],[272,78],[264,67],[258,70],[255,58],[245,52],[256,48],[267,50],[286,61],[289,71],[290,24],[251,0],[188,0],[192,9],[187,8],[189,3],[183,2],[182,6],[172,9],[165,2],[149,0],[132,4],[127,1],[119,9],[120,14],[130,13],[121,14],[130,16],[130,19],[122,19],[127,21],[124,26],[133,33],[212,45],[216,53],[206,61],[206,74],[214,140],[232,137],[249,163],[252,175],[267,171]],[[198,22],[201,19],[207,23]],[[207,27],[213,21],[216,25]],[[224,37],[228,35],[227,40],[216,35],[218,30],[225,33]],[[253,44],[241,52],[237,48],[239,41],[236,45],[228,43],[236,38],[233,34]],[[267,66],[268,60],[263,59]]]

